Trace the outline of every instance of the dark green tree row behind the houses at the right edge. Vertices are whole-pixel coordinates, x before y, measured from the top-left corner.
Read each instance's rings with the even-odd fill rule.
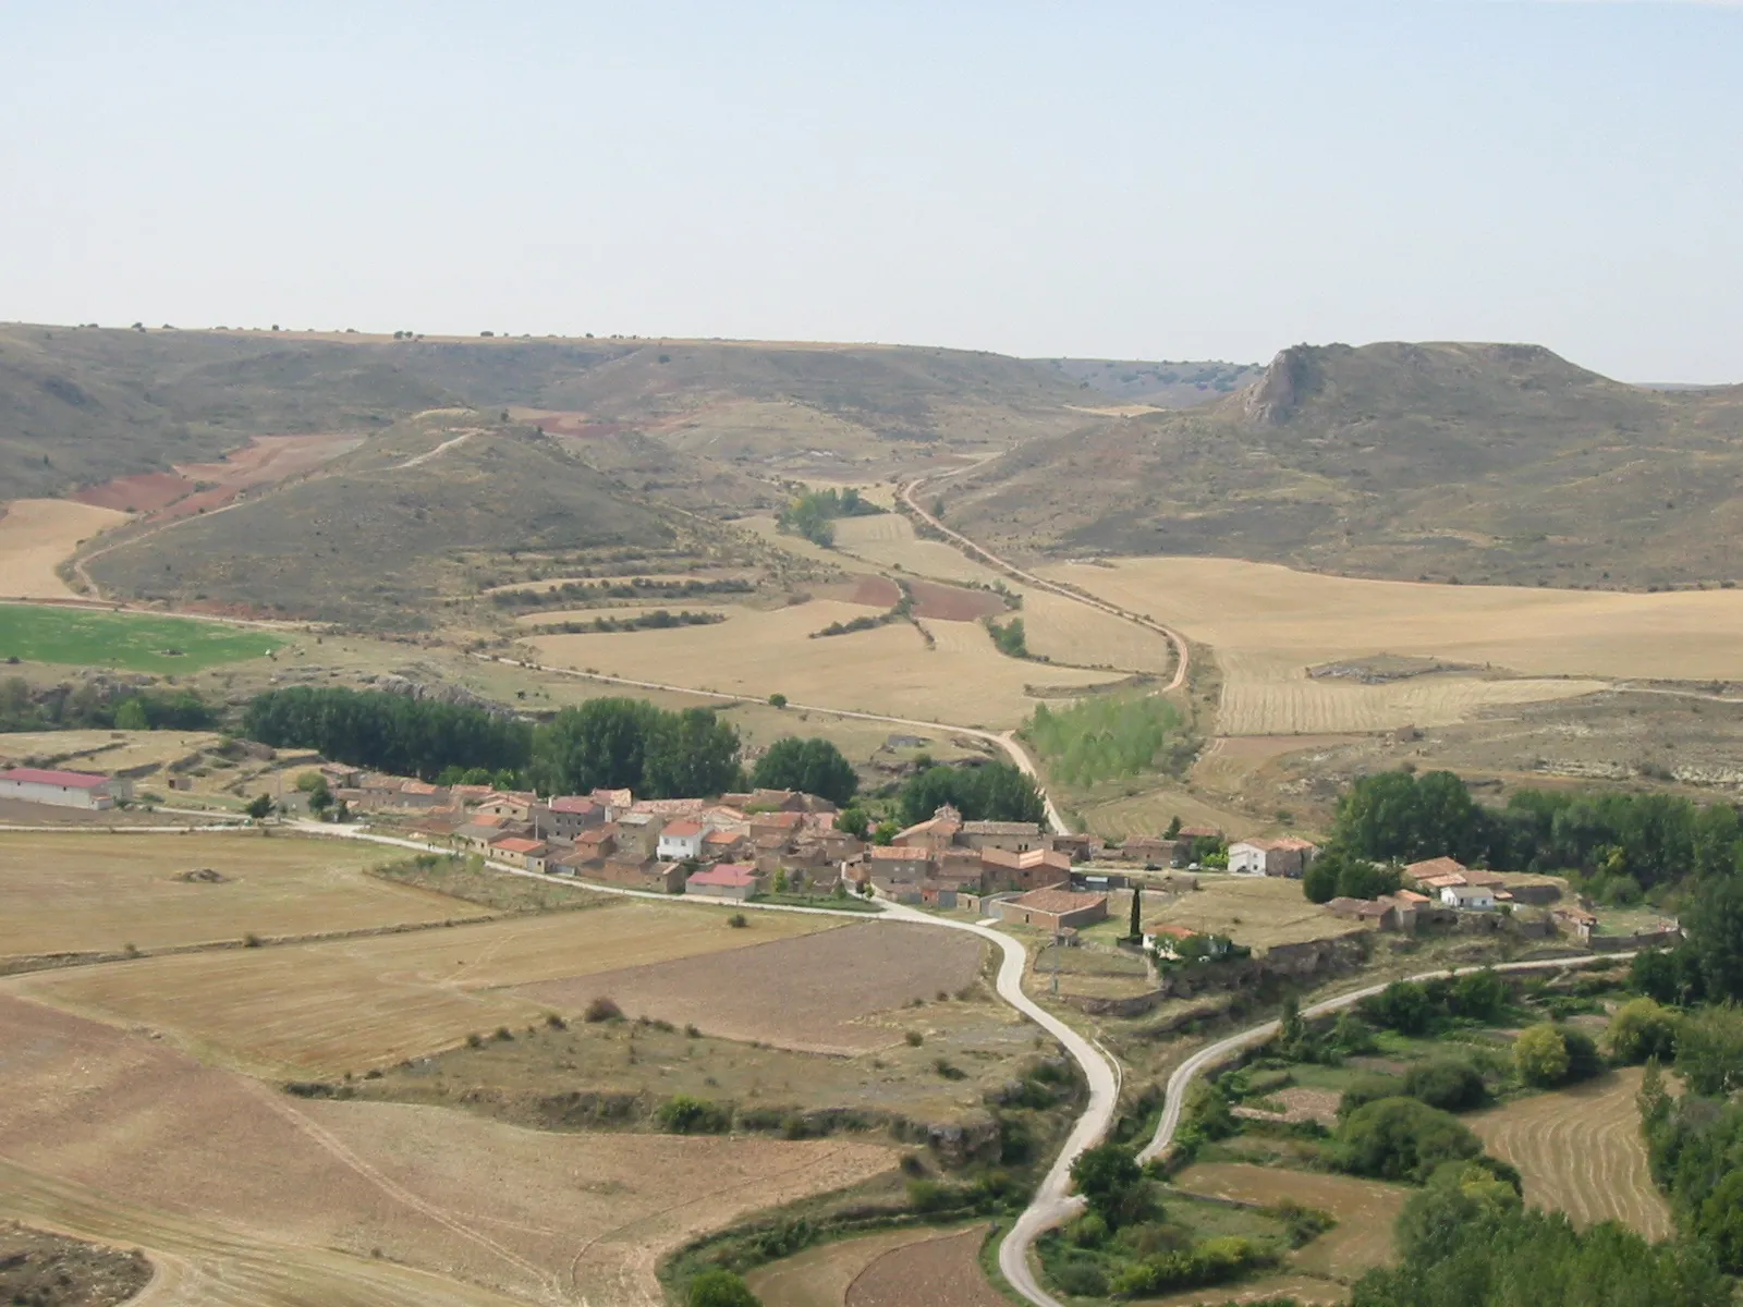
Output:
[[[1457,857],[1511,871],[1577,870],[1635,892],[1738,870],[1743,824],[1727,803],[1672,795],[1522,789],[1489,809],[1452,772],[1380,772],[1337,805],[1332,843],[1358,857]],[[1623,896],[1624,897],[1624,896]]]

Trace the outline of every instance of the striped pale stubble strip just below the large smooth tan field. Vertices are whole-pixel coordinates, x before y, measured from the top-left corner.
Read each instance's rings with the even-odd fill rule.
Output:
[[[1278,654],[1217,650],[1222,701],[1217,730],[1224,735],[1337,734],[1387,730],[1398,725],[1450,727],[1487,708],[1544,699],[1577,699],[1609,681],[1483,676],[1412,676],[1384,685],[1342,678],[1311,678],[1304,664]]]

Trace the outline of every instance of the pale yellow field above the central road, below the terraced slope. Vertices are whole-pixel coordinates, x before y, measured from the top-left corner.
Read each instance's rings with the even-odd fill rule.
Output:
[[[720,626],[617,634],[533,636],[539,662],[697,690],[884,713],[922,721],[1006,728],[1034,709],[1027,685],[1063,690],[1105,674],[1007,659],[974,622],[931,622],[938,648],[926,648],[906,622],[847,636],[809,640],[866,608],[833,599],[758,612],[737,608]],[[948,643],[945,636],[948,634]]]

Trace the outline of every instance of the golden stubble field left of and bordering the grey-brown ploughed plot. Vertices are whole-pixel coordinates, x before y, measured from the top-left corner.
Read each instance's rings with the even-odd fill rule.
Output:
[[[37,972],[9,985],[84,1016],[164,1032],[220,1065],[324,1077],[540,1021],[551,1004],[516,992],[519,985],[835,925],[828,917],[756,913],[751,929],[734,931],[727,917],[720,908],[617,899],[453,929]]]

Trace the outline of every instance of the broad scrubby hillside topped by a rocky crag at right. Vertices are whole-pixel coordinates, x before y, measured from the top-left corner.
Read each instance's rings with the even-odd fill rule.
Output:
[[[1217,403],[941,483],[1030,556],[1213,554],[1548,586],[1743,577],[1743,387],[1644,390],[1525,345],[1300,345]]]

